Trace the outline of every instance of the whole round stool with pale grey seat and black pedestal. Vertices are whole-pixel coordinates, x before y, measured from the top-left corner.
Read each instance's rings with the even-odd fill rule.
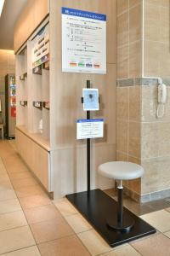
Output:
[[[106,219],[106,223],[113,230],[129,231],[133,227],[134,220],[127,214],[123,215],[122,204],[122,180],[132,180],[142,177],[144,169],[142,166],[125,161],[112,161],[99,166],[99,174],[104,177],[113,178],[118,181],[117,186],[117,216]]]

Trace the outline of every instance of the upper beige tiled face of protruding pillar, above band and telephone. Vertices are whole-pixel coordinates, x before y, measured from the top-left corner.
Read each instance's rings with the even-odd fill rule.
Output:
[[[145,77],[170,77],[169,0],[144,2]]]

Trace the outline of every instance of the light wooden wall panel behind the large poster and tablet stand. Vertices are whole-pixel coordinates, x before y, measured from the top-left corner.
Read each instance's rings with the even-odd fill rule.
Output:
[[[63,73],[61,7],[107,15],[107,73]],[[90,79],[99,89],[99,111],[105,119],[104,138],[92,140],[91,188],[109,189],[113,182],[98,166],[116,159],[116,0],[50,0],[50,141],[54,166],[54,198],[86,189],[86,141],[76,139],[76,120],[86,118],[82,88]]]

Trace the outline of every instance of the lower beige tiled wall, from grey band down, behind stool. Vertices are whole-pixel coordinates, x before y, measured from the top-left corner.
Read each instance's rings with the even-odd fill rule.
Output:
[[[135,84],[137,81],[139,85]],[[165,81],[169,96],[170,79]],[[116,160],[144,167],[141,180],[125,183],[127,193],[141,201],[169,196],[170,97],[163,118],[156,119],[157,79],[122,79],[117,83],[116,106]]]

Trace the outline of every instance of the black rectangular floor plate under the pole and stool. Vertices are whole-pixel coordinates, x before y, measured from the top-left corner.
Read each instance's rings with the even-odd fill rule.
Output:
[[[106,218],[116,218],[117,203],[100,189],[90,190],[89,193],[86,191],[66,195],[66,198],[82,213],[84,218],[88,220],[111,247],[116,247],[124,242],[156,232],[156,229],[150,224],[147,224],[125,207],[123,207],[123,214],[130,215],[135,222],[132,230],[127,233],[111,230],[106,224]]]

